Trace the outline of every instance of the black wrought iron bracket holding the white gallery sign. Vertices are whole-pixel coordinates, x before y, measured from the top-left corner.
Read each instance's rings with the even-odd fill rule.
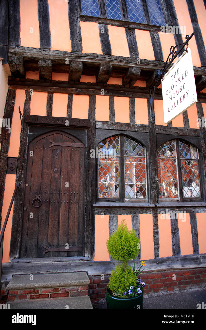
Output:
[[[160,81],[160,79],[162,79],[164,77],[164,75],[166,73],[166,70],[169,68],[171,63],[176,59],[176,57],[180,54],[180,52],[184,49],[184,47],[185,46],[188,47],[188,42],[193,37],[193,35],[194,35],[194,32],[190,36],[187,34],[186,37],[185,37],[186,41],[183,44],[179,44],[179,45],[170,47],[170,53],[167,57],[164,68],[157,71],[157,79],[155,80],[156,84],[154,83],[154,85],[149,88],[150,119],[151,119],[152,124],[155,123],[155,119],[154,119],[155,118],[155,114],[154,114],[154,95],[155,95],[157,86],[159,85],[159,81]],[[182,47],[179,51],[175,50],[176,47],[181,46],[181,45],[182,45]],[[172,56],[172,57],[170,57],[170,56]],[[169,63],[168,63],[168,61],[169,61]],[[153,89],[153,92],[152,92],[152,89]]]

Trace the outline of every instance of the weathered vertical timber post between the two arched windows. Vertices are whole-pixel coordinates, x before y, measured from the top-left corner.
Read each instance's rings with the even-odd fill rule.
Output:
[[[157,144],[156,144],[156,128],[151,123],[150,100],[147,99],[147,109],[149,117],[149,160],[150,160],[150,187],[151,195],[149,200],[152,204],[158,203],[158,175],[157,175]],[[154,239],[154,257],[159,257],[159,226],[158,226],[158,209],[152,209],[153,218],[153,239]]]

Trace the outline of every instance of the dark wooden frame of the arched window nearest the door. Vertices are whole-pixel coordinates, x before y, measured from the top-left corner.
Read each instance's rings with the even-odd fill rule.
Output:
[[[129,132],[128,132],[129,133]],[[148,191],[148,180],[149,180],[149,176],[148,176],[148,170],[147,170],[147,150],[146,147],[144,146],[144,144],[139,141],[138,139],[130,136],[128,134],[128,136],[133,139],[134,141],[137,141],[138,143],[140,143],[143,147],[144,147],[144,152],[145,152],[145,181],[146,181],[146,198],[135,198],[135,199],[126,199],[125,198],[125,153],[124,153],[124,137],[127,136],[127,134],[114,134],[111,135],[115,136],[118,135],[119,136],[119,143],[120,143],[120,157],[119,157],[119,198],[98,198],[98,188],[99,188],[99,167],[98,164],[99,162],[97,161],[96,163],[96,184],[97,184],[97,203],[108,203],[108,202],[112,202],[112,203],[148,203],[149,201],[149,191]],[[107,137],[108,138],[108,137]],[[107,138],[104,138],[107,139]],[[100,142],[99,142],[100,143]],[[98,143],[98,145],[99,145]]]

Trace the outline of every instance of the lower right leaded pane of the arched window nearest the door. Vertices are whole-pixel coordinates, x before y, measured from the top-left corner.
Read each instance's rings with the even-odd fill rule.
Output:
[[[146,198],[144,157],[125,157],[125,198]]]

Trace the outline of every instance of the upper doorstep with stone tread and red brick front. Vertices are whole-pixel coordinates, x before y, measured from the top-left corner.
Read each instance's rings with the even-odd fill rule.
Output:
[[[86,272],[14,275],[6,287],[8,302],[88,296]]]

